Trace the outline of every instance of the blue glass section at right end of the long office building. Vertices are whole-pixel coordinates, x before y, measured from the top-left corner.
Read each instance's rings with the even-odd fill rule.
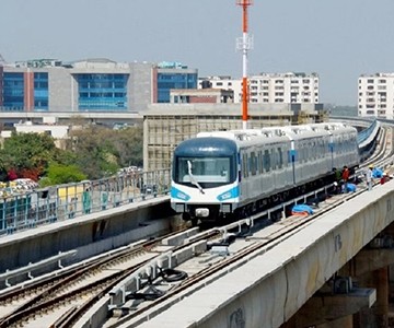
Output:
[[[158,103],[170,103],[171,89],[197,89],[197,73],[158,72]]]

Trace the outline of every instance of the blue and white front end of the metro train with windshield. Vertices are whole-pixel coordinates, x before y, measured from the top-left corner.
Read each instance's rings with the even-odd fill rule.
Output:
[[[239,202],[237,147],[234,140],[201,137],[174,151],[171,207],[196,222],[230,215]]]

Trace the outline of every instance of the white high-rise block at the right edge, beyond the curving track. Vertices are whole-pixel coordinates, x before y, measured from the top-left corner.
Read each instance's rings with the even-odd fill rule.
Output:
[[[359,78],[358,115],[394,118],[394,73],[366,74]]]

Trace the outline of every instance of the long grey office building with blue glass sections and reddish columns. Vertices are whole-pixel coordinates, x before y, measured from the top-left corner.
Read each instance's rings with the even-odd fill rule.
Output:
[[[170,103],[171,89],[197,89],[197,70],[177,62],[108,59],[0,67],[2,112],[141,112],[152,103]]]

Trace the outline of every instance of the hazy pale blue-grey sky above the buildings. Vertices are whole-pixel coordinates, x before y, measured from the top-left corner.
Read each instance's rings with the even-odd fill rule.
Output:
[[[235,0],[0,0],[5,61],[181,61],[242,77]],[[320,101],[357,104],[360,74],[394,71],[394,0],[254,0],[248,74],[316,72]]]

